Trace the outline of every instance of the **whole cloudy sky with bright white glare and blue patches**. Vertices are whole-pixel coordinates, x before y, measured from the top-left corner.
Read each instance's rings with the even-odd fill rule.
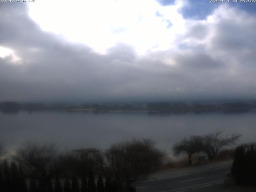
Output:
[[[256,97],[256,2],[0,2],[0,18],[0,101]]]

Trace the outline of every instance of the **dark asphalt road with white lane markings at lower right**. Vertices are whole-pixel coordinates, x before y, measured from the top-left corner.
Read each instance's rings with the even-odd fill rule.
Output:
[[[182,192],[186,190],[195,190],[208,188],[222,183],[224,178],[230,172],[230,166],[214,168],[194,172],[183,176],[152,179],[133,183],[136,192]]]

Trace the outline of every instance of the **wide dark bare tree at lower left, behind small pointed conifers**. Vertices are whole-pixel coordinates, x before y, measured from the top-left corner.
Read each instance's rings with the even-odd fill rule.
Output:
[[[25,166],[30,174],[44,181],[60,173],[64,168],[58,159],[54,144],[26,141],[16,150],[14,159]]]

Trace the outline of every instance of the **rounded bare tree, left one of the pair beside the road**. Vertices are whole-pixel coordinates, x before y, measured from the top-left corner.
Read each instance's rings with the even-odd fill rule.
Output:
[[[192,165],[192,154],[198,153],[202,151],[203,139],[202,136],[193,135],[189,138],[183,138],[183,140],[179,143],[174,144],[173,150],[175,155],[179,155],[180,153],[188,154],[188,164]]]

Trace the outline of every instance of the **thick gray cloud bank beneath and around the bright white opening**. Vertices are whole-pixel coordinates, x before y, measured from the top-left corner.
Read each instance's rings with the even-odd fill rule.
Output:
[[[3,5],[3,6],[2,6]],[[24,4],[1,4],[0,46],[14,50],[0,58],[0,100],[116,101],[253,98],[256,96],[255,19],[194,24],[176,38],[204,40],[182,49],[139,56],[117,44],[98,54],[84,44],[44,32]],[[242,18],[248,18],[243,13]],[[209,37],[210,34],[210,37]],[[169,64],[167,61],[172,61]]]

